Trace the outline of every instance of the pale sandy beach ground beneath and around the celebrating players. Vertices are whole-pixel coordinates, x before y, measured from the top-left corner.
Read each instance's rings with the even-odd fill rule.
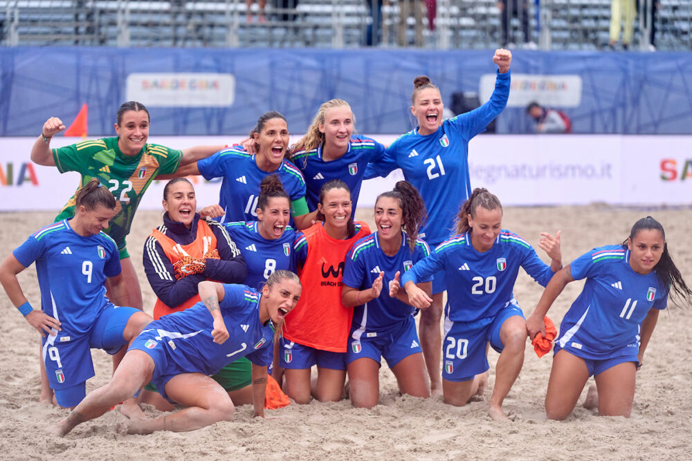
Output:
[[[372,211],[359,210],[370,222]],[[684,235],[692,223],[692,209],[589,207],[512,207],[504,210],[503,227],[516,232],[538,248],[540,232],[561,229],[563,261],[592,247],[620,243],[638,218],[651,215],[666,229],[673,260],[692,285],[692,249]],[[53,212],[5,213],[0,255],[6,257],[39,227],[51,223]],[[142,247],[161,213],[140,211],[127,239],[139,271],[145,310],[152,312],[155,297],[143,268]],[[544,261],[547,256],[538,249]],[[39,288],[34,267],[19,281],[30,303],[39,307]],[[574,300],[582,283],[575,282],[554,304],[549,317],[556,325]],[[530,314],[543,288],[520,272],[515,296]],[[455,408],[441,397],[417,399],[400,396],[394,375],[380,372],[380,404],[372,410],[354,409],[348,401],[299,406],[291,404],[268,411],[268,418],[252,417],[251,406],[237,408],[232,422],[222,422],[191,433],[122,435],[125,420],[117,410],[78,426],[65,438],[50,435],[67,410],[39,404],[39,335],[21,317],[7,297],[0,296],[0,453],[7,460],[84,459],[282,459],[386,460],[425,459],[554,459],[554,460],[651,460],[689,459],[692,420],[692,312],[690,306],[668,309],[659,317],[644,366],[637,373],[632,417],[599,417],[577,406],[564,422],[545,420],[543,399],[552,354],[538,359],[527,341],[522,372],[504,403],[510,422],[494,422],[487,402],[494,382],[498,354],[491,350],[489,388],[482,398]],[[96,376],[87,391],[105,384],[111,361],[105,352],[92,351]],[[590,380],[590,383],[593,381]],[[583,396],[586,390],[584,390]],[[580,401],[581,404],[581,401]],[[156,416],[152,406],[147,415]]]

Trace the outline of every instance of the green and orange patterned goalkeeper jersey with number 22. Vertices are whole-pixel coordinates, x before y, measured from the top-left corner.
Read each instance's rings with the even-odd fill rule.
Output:
[[[149,184],[158,175],[174,173],[183,157],[181,151],[156,144],[145,144],[136,156],[126,156],[118,148],[118,138],[86,140],[52,150],[60,173],[78,171],[82,175],[80,187],[97,178],[113,193],[117,213],[106,233],[116,241],[118,250],[125,248],[125,236]],[[72,196],[55,220],[71,218],[74,214],[75,196]]]

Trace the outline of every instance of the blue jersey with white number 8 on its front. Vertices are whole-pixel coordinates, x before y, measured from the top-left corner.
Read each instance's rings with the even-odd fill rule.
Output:
[[[226,224],[230,238],[243,254],[248,267],[244,283],[255,290],[259,290],[276,270],[298,272],[300,254],[293,251],[293,243],[302,237],[301,232],[286,226],[279,238],[268,240],[260,235],[258,225],[258,221]]]

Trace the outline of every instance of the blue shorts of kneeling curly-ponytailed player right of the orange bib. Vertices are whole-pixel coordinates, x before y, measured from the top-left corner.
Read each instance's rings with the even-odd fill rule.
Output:
[[[391,328],[378,332],[358,329],[351,333],[346,350],[346,363],[367,357],[380,364],[384,357],[390,368],[394,368],[409,355],[422,352],[421,341],[416,333],[416,321],[411,315]]]

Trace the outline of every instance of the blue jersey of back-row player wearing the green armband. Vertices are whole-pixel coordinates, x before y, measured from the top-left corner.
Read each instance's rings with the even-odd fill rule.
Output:
[[[224,178],[219,205],[226,214],[221,217],[221,223],[256,220],[260,182],[271,174],[279,177],[291,200],[305,196],[305,181],[294,164],[284,160],[276,171],[264,171],[257,167],[255,156],[242,147],[230,147],[198,160],[197,169],[206,180]]]

